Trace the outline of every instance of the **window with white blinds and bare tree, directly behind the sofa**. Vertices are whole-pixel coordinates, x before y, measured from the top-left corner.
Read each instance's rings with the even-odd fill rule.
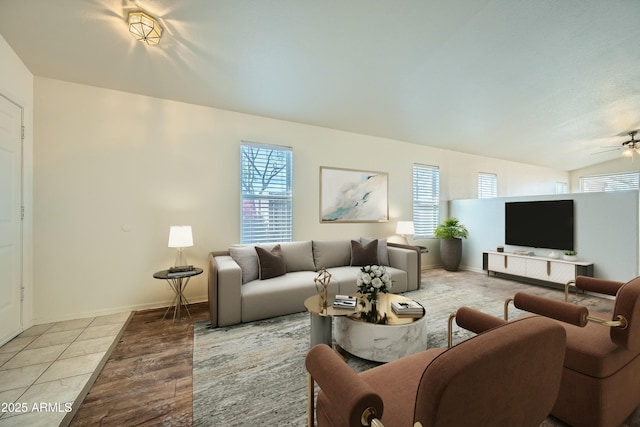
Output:
[[[240,241],[292,241],[291,148],[243,142],[240,170]]]

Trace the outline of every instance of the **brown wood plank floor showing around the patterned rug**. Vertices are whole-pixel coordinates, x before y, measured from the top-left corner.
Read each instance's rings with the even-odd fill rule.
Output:
[[[483,273],[427,270],[423,280],[461,286],[504,300],[526,290],[561,299],[563,292]],[[590,310],[610,312],[613,302],[578,299]],[[192,424],[193,323],[208,319],[206,303],[190,306],[192,319],[162,321],[164,309],[135,313],[122,339],[86,396],[71,426],[190,426]]]

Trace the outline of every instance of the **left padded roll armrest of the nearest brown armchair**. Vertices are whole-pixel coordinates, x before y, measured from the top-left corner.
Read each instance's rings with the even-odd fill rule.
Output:
[[[331,406],[344,414],[346,425],[370,425],[382,417],[382,398],[326,344],[307,353],[309,421],[313,421],[313,382],[318,383]],[[364,418],[364,419],[363,419]],[[362,423],[365,421],[367,424]]]

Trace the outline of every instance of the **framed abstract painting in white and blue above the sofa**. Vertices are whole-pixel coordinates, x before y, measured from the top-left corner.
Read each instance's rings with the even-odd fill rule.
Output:
[[[388,220],[388,173],[320,167],[320,222]]]

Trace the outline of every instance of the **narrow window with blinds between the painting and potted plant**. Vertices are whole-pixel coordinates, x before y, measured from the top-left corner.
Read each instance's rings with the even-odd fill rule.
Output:
[[[440,217],[440,169],[413,165],[413,228],[415,237],[433,237]]]

